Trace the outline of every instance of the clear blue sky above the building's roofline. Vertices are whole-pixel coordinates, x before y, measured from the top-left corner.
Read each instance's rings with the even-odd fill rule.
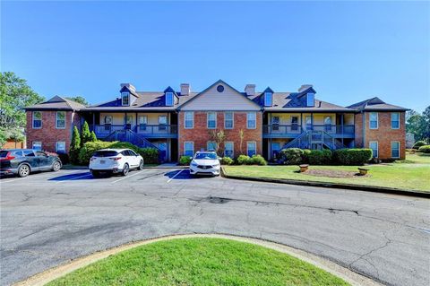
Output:
[[[1,69],[90,103],[138,91],[297,91],[340,105],[430,103],[428,2],[4,2]]]

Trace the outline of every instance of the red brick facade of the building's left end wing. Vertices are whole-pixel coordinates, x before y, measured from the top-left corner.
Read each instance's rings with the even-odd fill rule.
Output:
[[[27,111],[27,148],[32,148],[33,142],[42,143],[42,150],[56,152],[56,143],[65,143],[65,152],[69,152],[72,140],[73,126],[80,128],[80,116],[73,111],[65,111],[64,128],[56,128],[56,110],[40,110],[42,113],[41,128],[33,128],[33,111]]]

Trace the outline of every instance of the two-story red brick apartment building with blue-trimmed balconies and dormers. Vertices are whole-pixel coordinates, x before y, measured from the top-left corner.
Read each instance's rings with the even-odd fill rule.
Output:
[[[315,98],[312,85],[297,92],[256,91],[247,84],[237,91],[221,80],[193,92],[136,91],[121,84],[119,97],[84,107],[54,97],[26,108],[27,145],[49,152],[68,152],[73,126],[87,121],[98,138],[158,148],[166,161],[201,150],[219,155],[262,154],[275,158],[283,148],[366,147],[381,160],[405,158],[405,112],[378,98],[341,107]],[[213,134],[224,132],[216,146]]]

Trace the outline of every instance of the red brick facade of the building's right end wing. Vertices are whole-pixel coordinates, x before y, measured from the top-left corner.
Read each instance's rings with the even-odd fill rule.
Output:
[[[378,159],[391,160],[391,142],[400,142],[400,159],[405,159],[406,156],[406,126],[405,112],[400,112],[400,128],[391,128],[391,113],[392,112],[377,112],[378,113],[378,128],[370,129],[369,117],[370,113],[365,112],[365,122],[363,123],[363,114],[356,114],[356,146],[359,148],[369,148],[369,142],[375,141],[378,143]],[[363,125],[364,144],[363,144]]]

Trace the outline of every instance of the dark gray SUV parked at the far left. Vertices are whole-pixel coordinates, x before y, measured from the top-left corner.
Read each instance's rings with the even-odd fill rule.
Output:
[[[33,149],[0,150],[0,176],[27,177],[33,171],[57,171],[61,167],[61,160],[56,154]]]

